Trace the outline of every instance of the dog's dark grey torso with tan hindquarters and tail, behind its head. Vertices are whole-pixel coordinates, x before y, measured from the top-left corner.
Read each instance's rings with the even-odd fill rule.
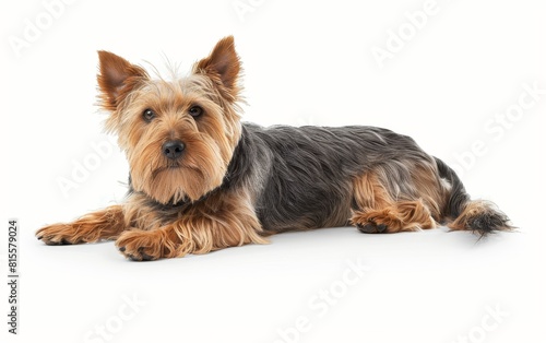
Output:
[[[247,181],[254,184],[254,209],[265,232],[349,222],[369,233],[417,230],[447,222],[453,229],[480,234],[507,227],[508,218],[490,204],[470,200],[443,162],[412,138],[387,129],[245,123],[239,144],[232,163],[245,165],[245,174],[254,176]],[[371,210],[375,217],[364,215]],[[468,222],[470,212],[487,218]],[[458,218],[463,214],[466,218]],[[385,223],[376,222],[385,215]]]

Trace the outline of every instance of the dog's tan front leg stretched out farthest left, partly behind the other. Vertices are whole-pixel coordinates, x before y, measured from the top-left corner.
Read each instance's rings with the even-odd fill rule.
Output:
[[[115,239],[126,228],[121,205],[85,214],[71,223],[45,226],[36,237],[47,245],[71,245]]]

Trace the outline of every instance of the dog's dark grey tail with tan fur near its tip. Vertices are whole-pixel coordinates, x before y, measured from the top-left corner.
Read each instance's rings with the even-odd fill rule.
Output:
[[[444,217],[448,218],[449,228],[472,230],[480,237],[497,230],[514,228],[508,216],[499,211],[492,202],[471,200],[455,172],[441,159],[436,157],[435,159],[440,177],[451,185],[449,198],[442,211]]]

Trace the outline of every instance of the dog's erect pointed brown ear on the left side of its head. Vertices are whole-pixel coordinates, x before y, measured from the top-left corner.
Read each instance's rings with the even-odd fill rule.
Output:
[[[117,106],[138,84],[149,79],[146,71],[126,59],[108,52],[98,51],[97,82],[100,90],[100,105],[116,110]]]

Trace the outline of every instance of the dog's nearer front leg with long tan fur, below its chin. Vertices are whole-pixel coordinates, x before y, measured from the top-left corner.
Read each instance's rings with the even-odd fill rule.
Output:
[[[150,261],[250,243],[268,243],[253,209],[240,194],[219,193],[157,228],[123,232],[116,246],[131,260]]]

